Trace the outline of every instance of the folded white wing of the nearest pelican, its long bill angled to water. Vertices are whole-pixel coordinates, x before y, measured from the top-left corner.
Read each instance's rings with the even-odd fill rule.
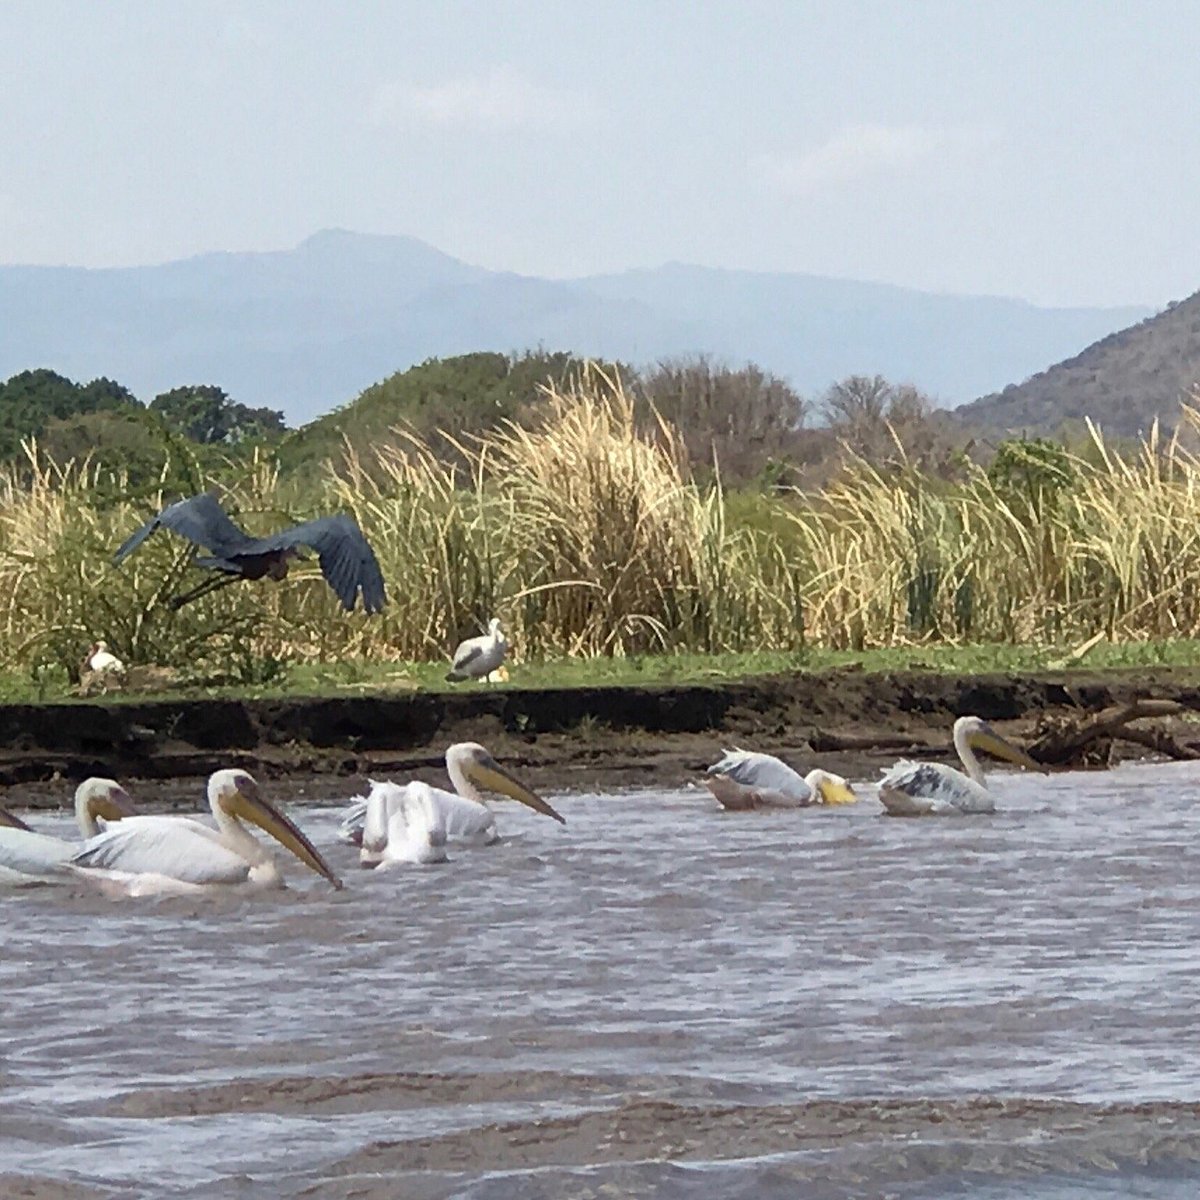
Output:
[[[250,863],[223,845],[215,829],[190,817],[126,817],[90,838],[73,866],[163,875],[184,883],[241,883]]]

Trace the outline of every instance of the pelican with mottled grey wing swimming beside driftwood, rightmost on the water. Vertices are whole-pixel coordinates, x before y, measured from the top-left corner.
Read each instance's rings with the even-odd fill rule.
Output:
[[[966,774],[940,762],[904,760],[888,768],[880,780],[880,800],[889,816],[925,817],[995,812],[996,800],[984,787],[983,767],[974,751],[1030,770],[1046,768],[1024,750],[1006,742],[982,716],[960,716],[954,722],[954,749]]]

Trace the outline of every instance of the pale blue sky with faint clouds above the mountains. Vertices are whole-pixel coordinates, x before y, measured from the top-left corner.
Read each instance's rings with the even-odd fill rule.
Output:
[[[1200,289],[1194,0],[0,0],[0,263]]]

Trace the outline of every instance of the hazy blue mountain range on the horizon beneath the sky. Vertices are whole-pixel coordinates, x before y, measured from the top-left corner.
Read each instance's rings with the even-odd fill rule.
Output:
[[[0,266],[0,379],[50,367],[142,400],[216,384],[299,424],[431,356],[545,347],[634,365],[704,352],[808,396],[878,373],[954,406],[1148,316],[682,264],[544,280],[325,230],[158,266]]]

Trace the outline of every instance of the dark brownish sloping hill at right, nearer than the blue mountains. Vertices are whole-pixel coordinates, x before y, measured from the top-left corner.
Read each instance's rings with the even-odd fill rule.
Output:
[[[1092,418],[1135,437],[1157,416],[1175,426],[1180,401],[1200,383],[1200,293],[1110,334],[1025,383],[984,396],[958,415],[984,428],[1052,433]]]

